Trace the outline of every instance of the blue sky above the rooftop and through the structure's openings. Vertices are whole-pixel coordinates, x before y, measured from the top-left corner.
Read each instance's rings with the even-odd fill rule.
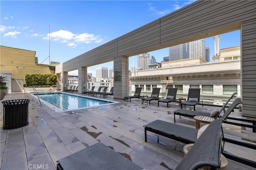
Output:
[[[50,30],[50,61],[63,63],[192,2],[194,0],[1,0],[0,44],[36,51],[38,63],[42,63],[49,56]],[[212,58],[213,37],[204,40]],[[220,36],[220,49],[238,45],[240,30]],[[148,53],[150,57],[154,55],[157,62],[169,55],[168,48]],[[43,64],[49,64],[49,58]],[[88,73],[94,75],[97,67],[112,65],[109,62],[88,67]],[[137,56],[129,58],[129,68],[133,65],[137,67]]]

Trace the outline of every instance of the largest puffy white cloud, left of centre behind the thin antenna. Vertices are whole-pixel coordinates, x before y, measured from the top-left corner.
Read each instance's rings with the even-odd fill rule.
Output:
[[[49,34],[43,38],[44,40],[49,40]],[[59,30],[50,33],[50,39],[60,43],[66,43],[70,47],[76,47],[77,43],[100,43],[102,38],[100,36],[95,36],[94,34],[82,33],[74,34],[67,30]]]

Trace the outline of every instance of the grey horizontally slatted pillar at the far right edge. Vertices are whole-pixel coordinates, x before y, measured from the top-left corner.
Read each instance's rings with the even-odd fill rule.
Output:
[[[241,26],[241,74],[244,117],[256,117],[256,19],[242,22]]]

